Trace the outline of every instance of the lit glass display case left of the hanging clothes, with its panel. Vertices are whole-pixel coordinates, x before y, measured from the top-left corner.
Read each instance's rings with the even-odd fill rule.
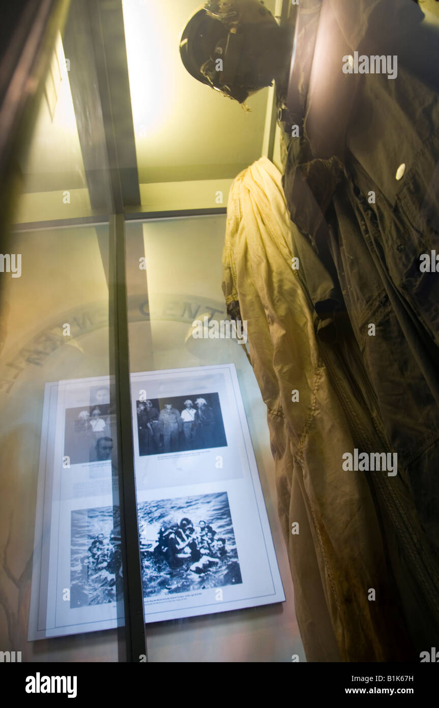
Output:
[[[42,18],[5,162],[11,661],[305,661],[265,406],[219,333],[228,190],[276,160],[274,89],[247,110],[206,96],[178,52],[194,9],[73,0]]]

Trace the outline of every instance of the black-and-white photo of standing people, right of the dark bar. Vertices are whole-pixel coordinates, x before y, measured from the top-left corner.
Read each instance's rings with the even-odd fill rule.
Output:
[[[217,393],[136,401],[139,455],[226,447]]]

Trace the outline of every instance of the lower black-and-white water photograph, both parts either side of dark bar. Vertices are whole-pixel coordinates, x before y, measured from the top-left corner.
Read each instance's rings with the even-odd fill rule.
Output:
[[[226,492],[139,504],[144,598],[242,583]],[[122,578],[116,507],[71,512],[70,607],[116,600]]]

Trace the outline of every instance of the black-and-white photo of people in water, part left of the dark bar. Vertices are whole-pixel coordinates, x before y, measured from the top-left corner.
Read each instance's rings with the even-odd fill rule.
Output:
[[[122,578],[119,509],[72,511],[70,607],[114,603],[117,576]]]

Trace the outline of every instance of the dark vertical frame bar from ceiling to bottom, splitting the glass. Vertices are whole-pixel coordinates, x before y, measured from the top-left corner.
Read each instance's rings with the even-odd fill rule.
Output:
[[[110,376],[115,382],[111,387],[117,435],[113,479],[118,493],[114,491],[113,506],[119,506],[123,569],[123,582],[117,578],[117,600],[122,600],[122,592],[124,600],[119,660],[137,662],[141,655],[146,658],[146,636],[131,423],[123,212],[125,205],[139,203],[140,194],[122,0],[71,0],[65,35],[71,70],[76,67],[78,74],[72,95],[90,200],[100,213],[110,207],[109,238],[100,239],[99,246],[108,282]]]

